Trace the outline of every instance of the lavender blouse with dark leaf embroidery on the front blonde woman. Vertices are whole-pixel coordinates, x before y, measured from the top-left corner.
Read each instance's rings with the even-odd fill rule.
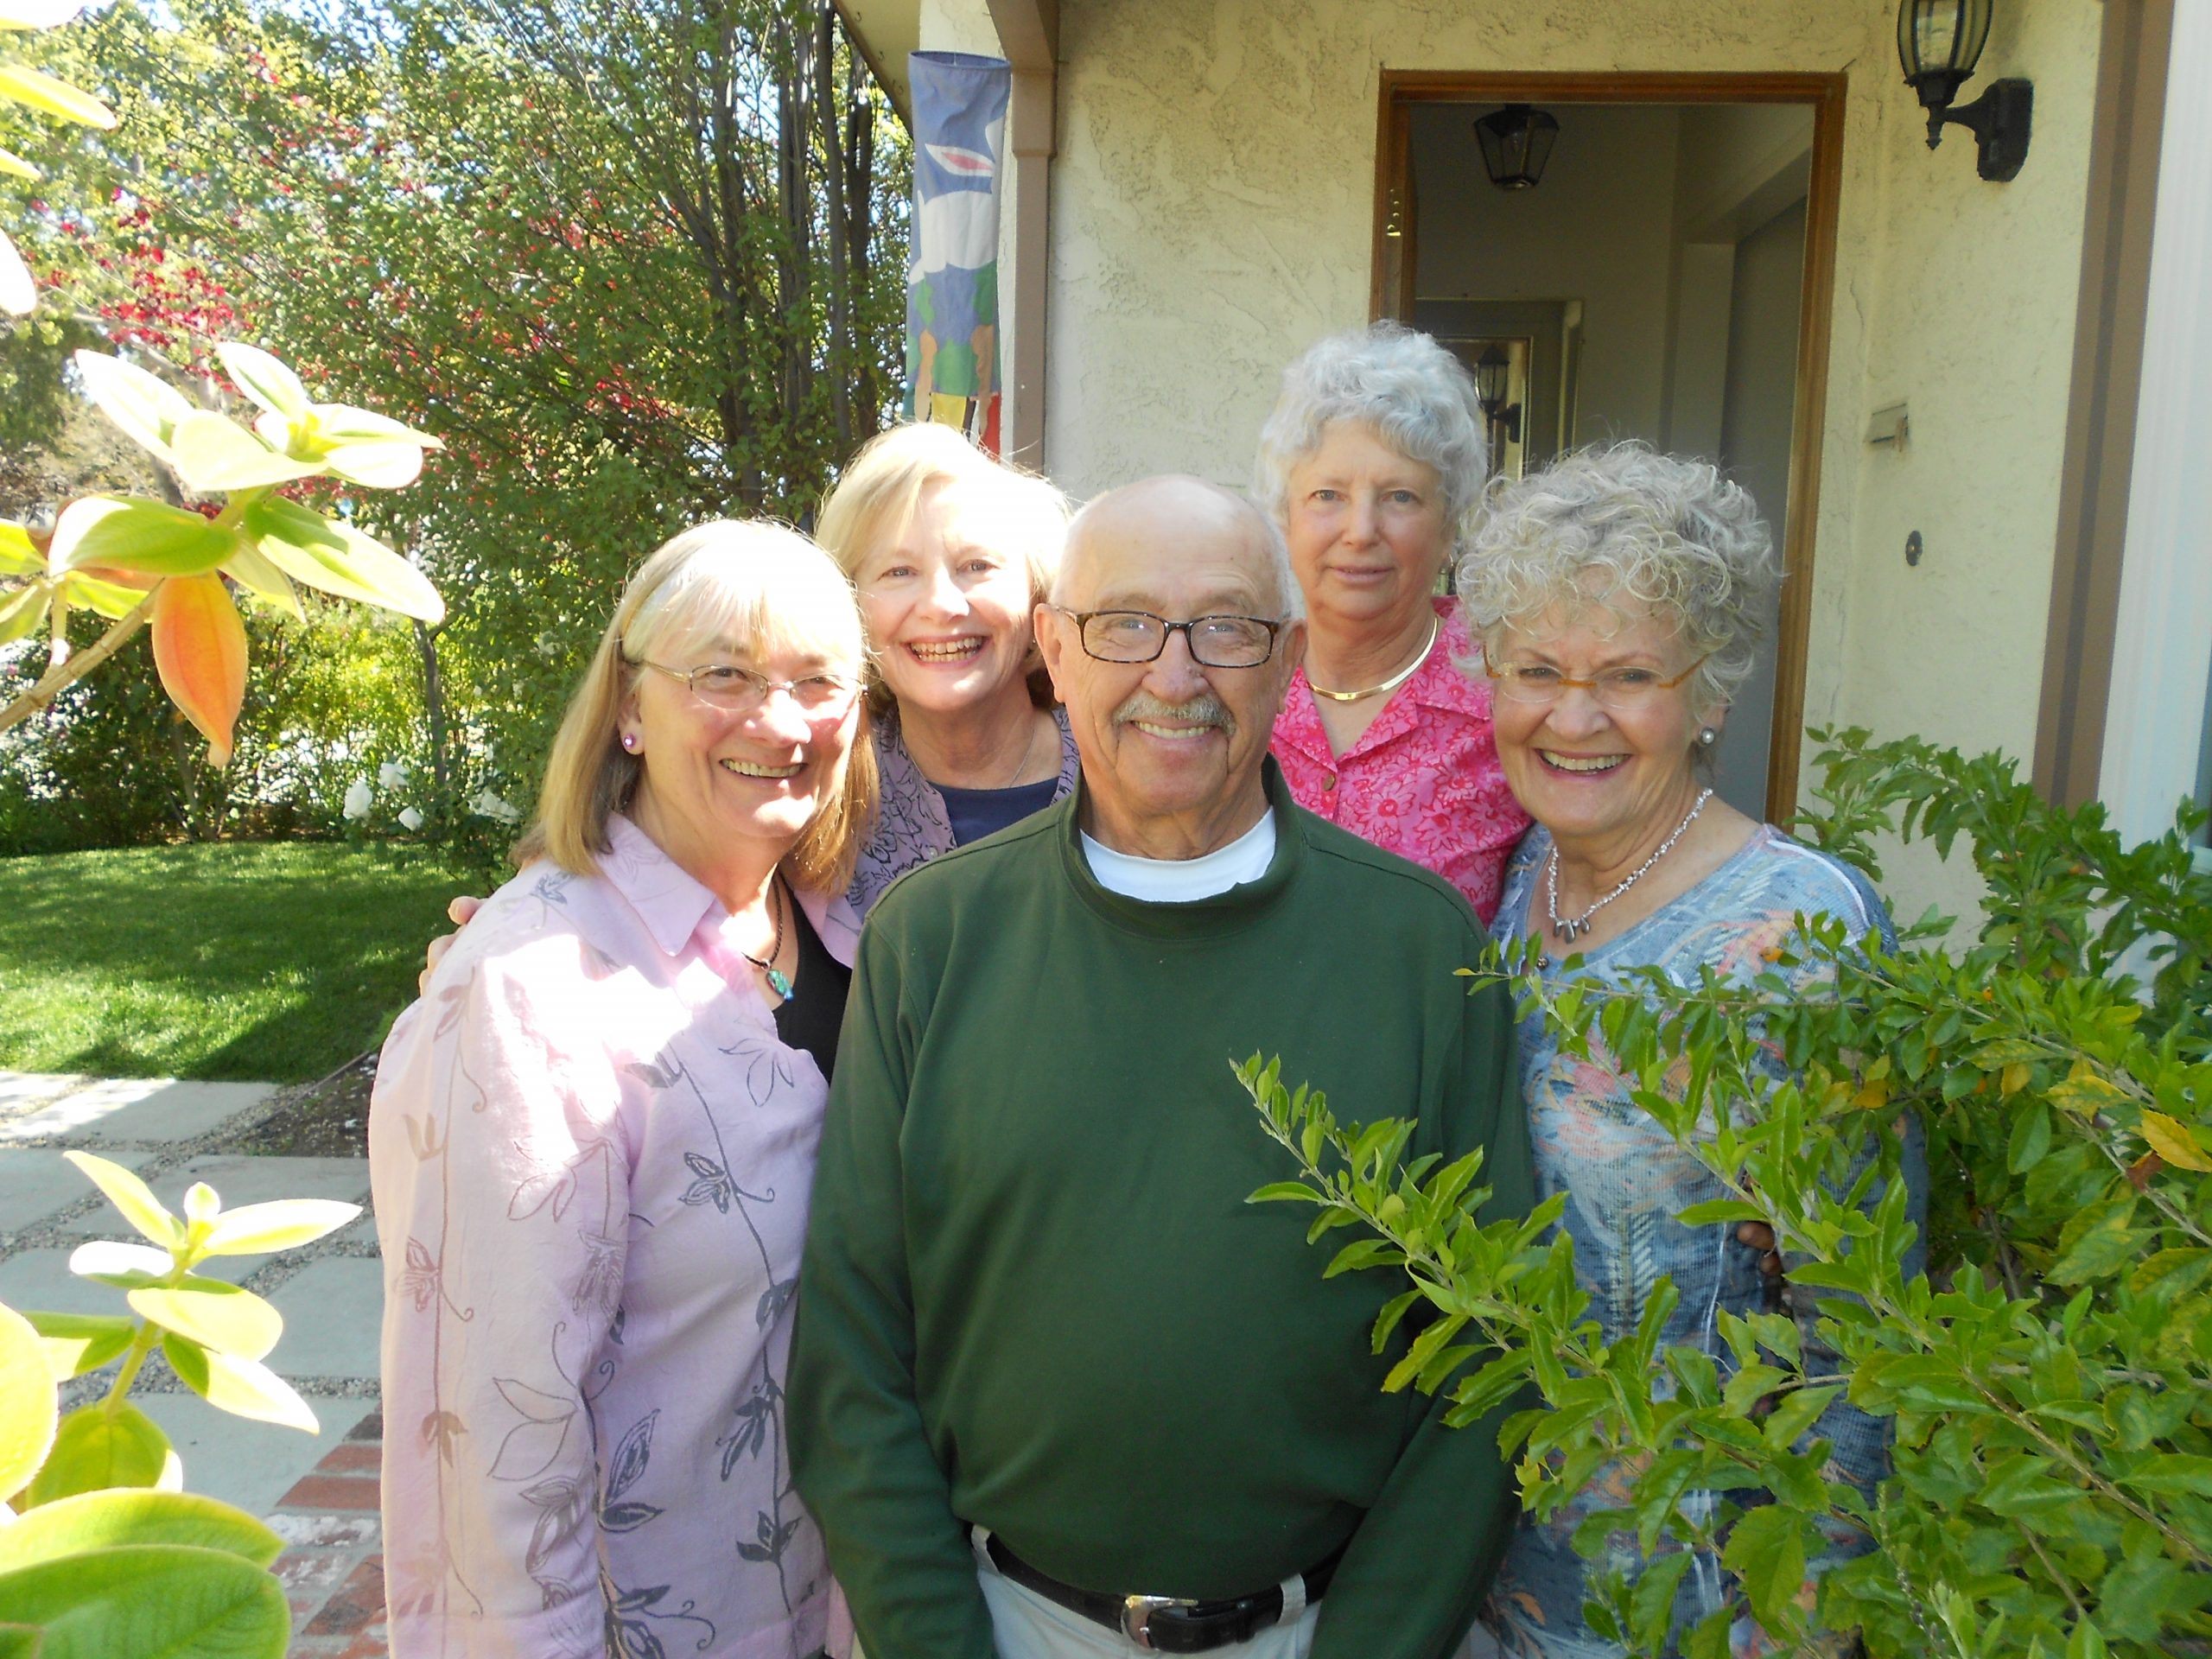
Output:
[[[626,818],[611,843],[493,894],[376,1073],[396,1659],[827,1632],[783,1380],[830,1091],[721,902]],[[801,902],[849,962],[849,905]]]

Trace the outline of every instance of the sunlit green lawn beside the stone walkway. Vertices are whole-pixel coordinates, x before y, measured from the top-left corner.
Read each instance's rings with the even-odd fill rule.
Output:
[[[469,885],[299,841],[0,858],[0,1066],[323,1077],[383,1040]]]

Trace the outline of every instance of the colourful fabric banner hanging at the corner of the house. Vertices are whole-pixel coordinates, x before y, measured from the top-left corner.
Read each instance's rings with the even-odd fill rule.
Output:
[[[998,453],[998,179],[1013,71],[1004,58],[918,51],[907,418],[960,427]]]

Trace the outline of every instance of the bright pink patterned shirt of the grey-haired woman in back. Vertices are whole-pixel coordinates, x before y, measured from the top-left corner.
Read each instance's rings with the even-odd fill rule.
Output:
[[[1343,757],[1329,754],[1303,668],[1290,681],[1272,748],[1301,807],[1433,869],[1489,925],[1528,814],[1498,765],[1489,681],[1455,666],[1473,657],[1458,608],[1458,599],[1436,599],[1436,650]]]

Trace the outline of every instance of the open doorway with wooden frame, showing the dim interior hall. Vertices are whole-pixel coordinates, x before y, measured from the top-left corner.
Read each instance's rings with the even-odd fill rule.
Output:
[[[1542,179],[1493,184],[1475,122],[1557,122]],[[1717,752],[1723,799],[1796,810],[1843,80],[1383,77],[1374,312],[1489,367],[1520,476],[1641,438],[1717,460],[1774,524],[1770,646]]]

